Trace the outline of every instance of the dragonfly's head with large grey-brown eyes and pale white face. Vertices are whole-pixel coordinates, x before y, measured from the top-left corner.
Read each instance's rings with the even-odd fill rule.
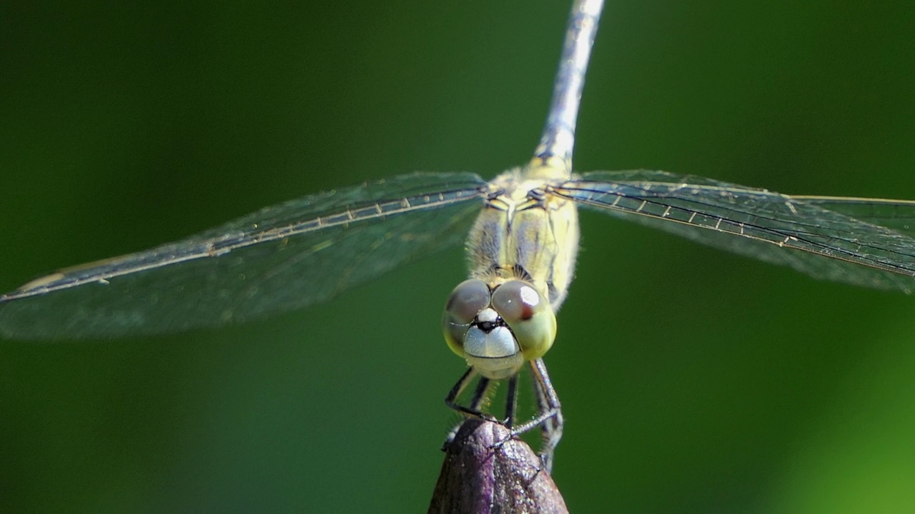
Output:
[[[501,380],[553,346],[553,307],[533,285],[510,280],[490,286],[469,279],[451,293],[442,316],[448,347],[482,376]]]

